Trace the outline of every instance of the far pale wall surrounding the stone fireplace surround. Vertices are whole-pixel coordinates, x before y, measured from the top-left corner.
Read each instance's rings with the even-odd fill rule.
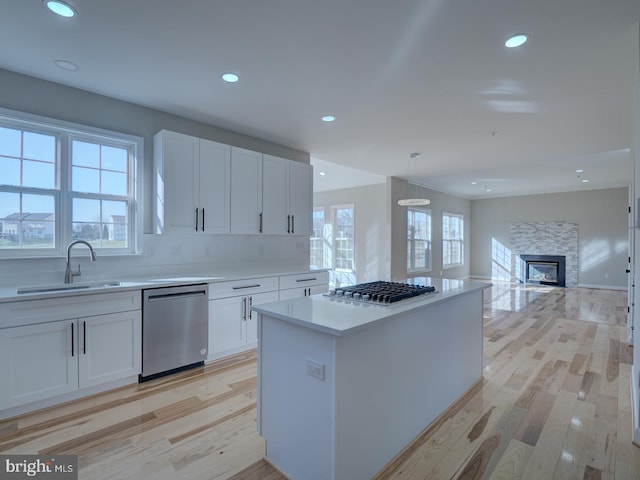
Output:
[[[512,251],[512,222],[572,221],[578,223],[578,284],[626,289],[628,208],[627,188],[474,200],[471,273],[491,278],[495,245]]]

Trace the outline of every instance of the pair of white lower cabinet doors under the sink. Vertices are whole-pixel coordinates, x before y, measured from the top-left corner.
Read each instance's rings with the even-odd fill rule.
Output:
[[[140,310],[0,330],[0,410],[140,373]]]

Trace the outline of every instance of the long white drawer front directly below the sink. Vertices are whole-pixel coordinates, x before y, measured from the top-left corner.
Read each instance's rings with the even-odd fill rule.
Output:
[[[0,328],[140,310],[140,290],[0,304]]]

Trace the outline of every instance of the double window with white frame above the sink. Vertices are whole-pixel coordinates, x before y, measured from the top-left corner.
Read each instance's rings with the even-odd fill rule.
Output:
[[[134,253],[142,139],[0,110],[0,256]]]

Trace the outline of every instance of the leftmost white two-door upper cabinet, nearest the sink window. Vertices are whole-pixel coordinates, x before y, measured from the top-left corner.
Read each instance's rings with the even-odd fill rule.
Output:
[[[153,148],[155,232],[229,233],[231,147],[162,130]]]

